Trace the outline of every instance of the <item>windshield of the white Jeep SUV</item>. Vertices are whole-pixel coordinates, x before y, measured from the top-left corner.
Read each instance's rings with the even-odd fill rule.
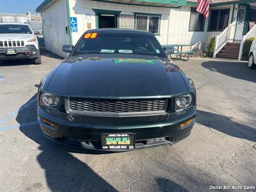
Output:
[[[3,25],[0,25],[0,34],[3,34],[3,33],[32,34],[32,31],[26,25],[3,24]]]

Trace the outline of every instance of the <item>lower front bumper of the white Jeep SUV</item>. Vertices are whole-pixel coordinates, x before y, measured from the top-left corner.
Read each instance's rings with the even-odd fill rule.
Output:
[[[14,49],[16,54],[6,54],[8,49]],[[20,48],[0,48],[0,60],[19,60],[19,59],[36,59],[38,58],[38,50],[34,45]]]

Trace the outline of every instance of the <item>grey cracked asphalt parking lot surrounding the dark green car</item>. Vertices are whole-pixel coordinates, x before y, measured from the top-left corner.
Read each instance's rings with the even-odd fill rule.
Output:
[[[168,147],[100,153],[60,145],[42,135],[36,121],[37,86],[60,61],[44,50],[42,65],[0,61],[0,191],[256,186],[256,70],[246,62],[177,61],[197,91],[191,135]]]

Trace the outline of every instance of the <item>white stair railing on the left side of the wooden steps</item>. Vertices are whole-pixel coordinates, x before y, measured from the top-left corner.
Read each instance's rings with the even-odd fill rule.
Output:
[[[213,52],[213,58],[216,58],[216,54],[220,52],[221,49],[227,44],[231,26],[232,24],[227,26],[227,28],[224,29],[224,31],[222,31],[220,35],[215,36],[215,47]]]

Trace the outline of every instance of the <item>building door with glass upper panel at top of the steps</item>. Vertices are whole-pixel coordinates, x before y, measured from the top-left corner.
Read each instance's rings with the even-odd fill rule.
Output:
[[[246,6],[240,5],[237,13],[235,40],[241,40],[245,28]]]

